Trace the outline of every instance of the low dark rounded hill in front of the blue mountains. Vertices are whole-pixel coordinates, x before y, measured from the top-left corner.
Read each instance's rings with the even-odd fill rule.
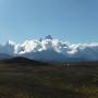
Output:
[[[0,60],[0,68],[17,68],[17,69],[28,69],[28,68],[34,68],[34,66],[45,66],[49,65],[49,63],[40,62],[40,61],[35,61],[35,60],[29,60],[23,57],[15,57],[11,59],[3,59]]]

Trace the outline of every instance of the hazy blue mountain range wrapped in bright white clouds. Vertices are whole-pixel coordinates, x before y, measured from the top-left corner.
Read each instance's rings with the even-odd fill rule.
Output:
[[[98,60],[98,42],[70,44],[48,35],[39,40],[26,40],[23,44],[8,41],[0,45],[0,58],[3,54],[47,62],[96,61]]]

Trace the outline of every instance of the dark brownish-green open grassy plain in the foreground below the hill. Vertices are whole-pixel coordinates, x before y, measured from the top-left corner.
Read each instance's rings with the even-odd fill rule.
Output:
[[[98,98],[98,66],[0,63],[0,98]]]

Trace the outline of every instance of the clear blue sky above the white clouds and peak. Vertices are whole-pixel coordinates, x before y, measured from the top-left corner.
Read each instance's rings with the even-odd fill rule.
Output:
[[[46,35],[70,42],[98,41],[98,0],[0,0],[0,41]]]

